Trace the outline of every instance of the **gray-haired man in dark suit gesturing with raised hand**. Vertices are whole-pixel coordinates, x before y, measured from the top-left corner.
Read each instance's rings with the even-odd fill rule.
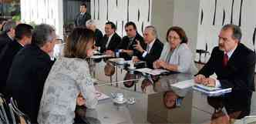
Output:
[[[145,28],[143,37],[147,44],[147,49],[143,49],[140,42],[137,41],[135,49],[139,52],[136,52],[136,57],[133,58],[133,62],[139,62],[140,60],[146,61],[147,67],[153,69],[153,62],[160,58],[163,43],[157,39],[157,29],[152,25]]]

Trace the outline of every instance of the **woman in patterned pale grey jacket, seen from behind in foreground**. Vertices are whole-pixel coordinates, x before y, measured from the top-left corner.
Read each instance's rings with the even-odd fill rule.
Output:
[[[96,108],[96,89],[85,60],[93,55],[93,35],[93,31],[86,28],[75,28],[69,35],[64,57],[57,59],[52,65],[45,81],[38,116],[39,124],[72,124],[76,105]],[[79,93],[85,101],[78,99]]]

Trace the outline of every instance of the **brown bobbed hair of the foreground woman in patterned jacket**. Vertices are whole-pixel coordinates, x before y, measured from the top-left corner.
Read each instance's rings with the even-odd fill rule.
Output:
[[[85,59],[86,46],[94,41],[94,32],[88,28],[74,28],[69,35],[65,48],[64,56],[67,58]]]

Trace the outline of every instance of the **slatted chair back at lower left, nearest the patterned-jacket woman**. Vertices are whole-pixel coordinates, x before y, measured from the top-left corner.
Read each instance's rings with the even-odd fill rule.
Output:
[[[19,110],[16,102],[12,98],[10,99],[8,106],[10,108],[10,113],[14,124],[31,124],[29,116],[25,115],[25,113]]]

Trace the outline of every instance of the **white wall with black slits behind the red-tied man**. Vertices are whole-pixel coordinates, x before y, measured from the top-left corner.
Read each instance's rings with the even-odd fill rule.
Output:
[[[241,8],[242,2],[242,8]],[[243,37],[241,42],[248,48],[254,50],[252,38],[254,28],[256,28],[256,1],[255,0],[235,0],[233,6],[233,24],[239,25],[241,10],[241,30]],[[218,43],[218,34],[221,27],[231,23],[232,1],[217,0],[216,15],[214,23],[215,1],[200,0],[200,15],[198,19],[198,39],[197,49],[206,49],[211,52]],[[201,14],[203,13],[203,15]],[[225,13],[225,15],[224,15]],[[203,16],[203,17],[202,17]],[[202,17],[202,22],[201,22]]]

